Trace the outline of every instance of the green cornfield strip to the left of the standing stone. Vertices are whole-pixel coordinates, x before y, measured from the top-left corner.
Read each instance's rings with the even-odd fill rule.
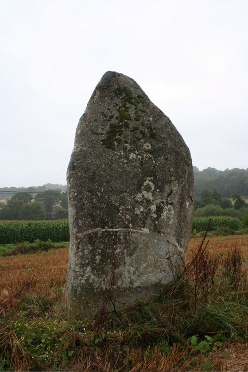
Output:
[[[50,239],[52,242],[69,241],[68,221],[0,222],[0,244],[33,243],[37,239],[42,241]]]

